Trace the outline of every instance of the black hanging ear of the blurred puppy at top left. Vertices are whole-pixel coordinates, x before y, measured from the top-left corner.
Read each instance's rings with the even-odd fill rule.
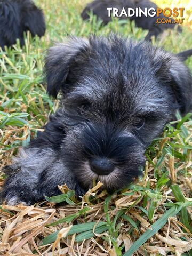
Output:
[[[29,30],[32,36],[38,35],[42,37],[46,29],[43,11],[34,3],[30,4],[22,13],[22,24],[24,25],[25,31]]]

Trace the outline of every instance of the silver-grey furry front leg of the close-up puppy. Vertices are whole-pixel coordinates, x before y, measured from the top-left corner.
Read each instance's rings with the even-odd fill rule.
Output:
[[[45,196],[61,194],[58,185],[64,183],[78,194],[83,193],[74,177],[67,172],[62,159],[51,148],[22,149],[19,158],[5,169],[10,175],[5,180],[1,198],[10,205],[21,202],[30,205]]]

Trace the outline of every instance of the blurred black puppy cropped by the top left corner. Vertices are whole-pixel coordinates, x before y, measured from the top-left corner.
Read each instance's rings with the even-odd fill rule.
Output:
[[[16,39],[24,45],[23,33],[34,37],[45,34],[45,20],[41,9],[31,0],[0,0],[0,46],[11,46]]]

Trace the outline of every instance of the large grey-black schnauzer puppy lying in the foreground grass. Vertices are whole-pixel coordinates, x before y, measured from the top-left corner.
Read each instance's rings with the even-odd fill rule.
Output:
[[[64,183],[82,195],[93,180],[110,192],[142,174],[147,146],[175,110],[191,108],[186,58],[114,35],[51,47],[47,92],[61,91],[61,107],[5,167],[2,199],[30,205],[60,194]]]

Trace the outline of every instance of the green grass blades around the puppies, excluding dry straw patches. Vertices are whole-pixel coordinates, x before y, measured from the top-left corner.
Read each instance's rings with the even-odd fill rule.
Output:
[[[124,21],[124,26],[121,26],[121,22],[114,19],[106,27],[102,27],[101,23],[96,22],[94,17],[92,23],[82,21],[80,13],[83,6],[85,6],[85,2],[89,1],[39,0],[35,2],[44,9],[47,23],[46,35],[41,39],[38,37],[31,39],[28,34],[26,44],[22,49],[18,42],[13,49],[0,52],[0,161],[2,166],[10,163],[11,157],[17,153],[18,147],[26,146],[30,139],[35,136],[37,130],[41,129],[46,123],[50,113],[54,113],[58,108],[58,101],[53,102],[47,97],[46,85],[42,78],[45,50],[54,41],[61,42],[67,35],[87,37],[90,34],[108,35],[111,32],[140,40],[147,34],[147,31],[135,27],[134,23],[129,21]],[[161,4],[165,6],[166,1],[161,1]],[[192,7],[190,10],[192,10]],[[153,44],[174,53],[190,49],[192,45],[191,28],[186,24],[183,26],[181,34],[167,30],[162,36],[158,37],[157,41],[153,38]],[[192,58],[189,58],[186,64],[192,70]],[[119,235],[124,234],[124,227],[128,225],[129,228],[127,228],[126,234],[132,237],[133,242],[137,241],[125,254],[131,255],[146,241],[148,241],[146,245],[153,246],[153,242],[148,239],[152,236],[153,239],[157,239],[154,237],[157,231],[161,230],[159,234],[165,236],[163,226],[169,217],[174,217],[177,214],[177,220],[184,226],[182,228],[183,235],[177,239],[188,241],[187,237],[190,237],[187,234],[188,230],[191,232],[189,207],[192,206],[191,201],[187,199],[191,195],[192,175],[189,166],[192,149],[190,143],[191,115],[188,114],[181,118],[178,113],[173,123],[174,126],[168,124],[165,127],[161,137],[154,140],[147,150],[148,164],[144,177],[140,178],[136,185],[130,185],[127,190],[118,194],[119,198],[137,195],[136,201],[129,206],[119,207],[115,203],[118,197],[116,199],[105,196],[101,199],[93,197],[91,198],[92,205],[102,205],[103,217],[99,225],[96,223],[99,221],[96,217],[90,224],[82,224],[82,218],[85,218],[86,214],[89,215],[87,211],[90,210],[84,208],[78,213],[58,218],[56,222],[52,221],[53,223],[47,225],[47,228],[61,225],[63,222],[74,223],[69,234],[78,233],[76,241],[81,242],[84,238],[89,239],[94,236],[92,229],[97,224],[95,233],[105,232],[100,238],[100,244],[111,243],[116,255],[122,255],[125,253],[125,244],[122,242],[119,245],[116,239]],[[175,177],[171,173],[171,169],[177,170]],[[4,178],[4,175],[2,178]],[[177,185],[172,186],[174,179]],[[166,197],[169,189],[172,191],[171,194],[169,193],[171,196]],[[47,199],[52,202],[55,202],[54,200],[62,201],[62,198]],[[105,201],[103,201],[104,199]],[[63,196],[63,201],[73,204],[73,201],[67,195]],[[14,213],[14,211],[10,212],[2,207],[0,209],[6,214]],[[129,213],[131,210],[136,211],[141,218],[148,221],[152,225],[151,229],[143,232],[142,222],[134,218],[134,214]],[[113,212],[115,214],[110,214]],[[51,242],[49,241],[50,236],[43,239],[45,235],[39,235],[39,241],[43,240],[39,245],[52,243],[57,237],[54,232],[58,232],[61,227],[57,226],[57,229],[50,229],[53,233],[51,234]],[[108,232],[107,235],[106,231]],[[170,237],[175,239],[172,233],[170,233]],[[158,239],[155,241],[160,243]],[[161,246],[164,246],[162,242]],[[142,253],[145,252],[145,255],[149,255],[148,251],[149,249],[145,249],[145,246],[142,247]]]

